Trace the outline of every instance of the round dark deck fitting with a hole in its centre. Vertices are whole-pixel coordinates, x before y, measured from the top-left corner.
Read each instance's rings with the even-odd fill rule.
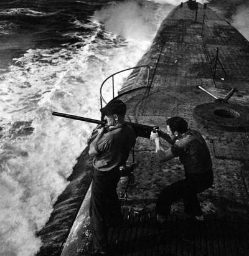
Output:
[[[249,108],[230,103],[205,103],[194,108],[195,120],[208,128],[249,131]]]

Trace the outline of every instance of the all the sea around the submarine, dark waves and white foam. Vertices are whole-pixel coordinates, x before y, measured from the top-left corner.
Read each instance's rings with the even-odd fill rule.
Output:
[[[0,255],[39,251],[35,234],[67,186],[100,118],[106,77],[134,67],[177,0],[12,0],[0,3]],[[209,2],[209,1],[199,1]],[[210,6],[248,38],[248,1]],[[128,72],[115,77],[115,93]],[[106,84],[103,96],[111,99]]]

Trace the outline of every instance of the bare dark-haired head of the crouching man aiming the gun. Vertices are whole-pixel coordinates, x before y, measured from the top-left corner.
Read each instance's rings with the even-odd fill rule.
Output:
[[[188,129],[187,121],[180,116],[172,116],[166,121],[167,133],[171,136],[172,140],[181,137]]]

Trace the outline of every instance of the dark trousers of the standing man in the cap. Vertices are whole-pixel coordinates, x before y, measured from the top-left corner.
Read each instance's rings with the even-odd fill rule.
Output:
[[[120,170],[94,170],[90,201],[93,249],[108,250],[108,225],[121,220],[121,207],[116,193]]]

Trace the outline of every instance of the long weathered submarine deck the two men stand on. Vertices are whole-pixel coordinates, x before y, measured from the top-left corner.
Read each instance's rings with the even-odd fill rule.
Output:
[[[196,12],[196,6],[189,2],[172,10],[138,63],[151,67],[149,87],[144,87],[146,70],[134,71],[120,90],[120,98],[126,102],[127,115],[133,122],[164,130],[166,119],[179,115],[191,128],[199,130],[212,156],[214,186],[199,194],[204,221],[190,219],[184,214],[182,202],[177,202],[166,224],[157,225],[157,194],[164,186],[182,179],[184,171],[178,159],[159,163],[153,142],[138,138],[134,150],[138,167],[134,176],[122,178],[118,186],[124,223],[109,232],[117,255],[249,255],[249,133],[247,127],[240,129],[240,118],[232,115],[237,112],[233,107],[240,105],[245,109],[242,125],[249,119],[249,42],[214,11],[198,4]],[[197,86],[205,87],[217,98],[224,98],[231,88],[238,92],[228,103],[215,102]],[[211,122],[214,116],[203,121],[194,115],[197,105],[207,104],[207,112],[210,103],[212,108],[225,109],[225,114],[232,116],[216,116],[218,120]],[[169,147],[166,142],[163,146]],[[51,222],[40,232],[47,249],[41,249],[39,255],[90,254],[90,188],[88,192],[82,189],[82,182],[90,181],[92,168],[87,151],[88,148],[80,156],[63,199],[60,197],[55,205],[56,224]],[[82,194],[85,199],[78,210]],[[67,200],[72,201],[70,206]],[[56,215],[56,209],[63,209],[66,217],[62,213]],[[54,240],[46,232],[53,225],[59,229]]]

